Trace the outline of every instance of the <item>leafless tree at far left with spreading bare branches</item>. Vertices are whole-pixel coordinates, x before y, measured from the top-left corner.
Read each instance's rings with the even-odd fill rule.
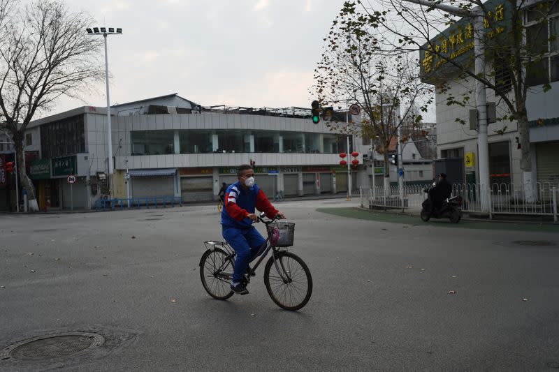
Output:
[[[2,0],[0,22],[0,114],[13,137],[17,170],[29,208],[38,210],[24,164],[24,132],[36,114],[60,96],[79,97],[89,82],[103,79],[101,40],[89,38],[89,17],[61,1],[37,0],[27,6]]]

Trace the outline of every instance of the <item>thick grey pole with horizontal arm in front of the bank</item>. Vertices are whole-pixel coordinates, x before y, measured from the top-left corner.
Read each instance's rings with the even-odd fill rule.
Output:
[[[410,3],[438,8],[458,17],[474,18],[474,62],[475,74],[485,76],[485,48],[484,48],[484,11],[480,6],[472,10],[465,10],[456,6],[435,3],[429,0],[405,0]],[[479,163],[479,186],[481,195],[481,210],[489,209],[489,145],[487,142],[487,94],[483,82],[476,80],[476,108],[477,108],[477,147]]]

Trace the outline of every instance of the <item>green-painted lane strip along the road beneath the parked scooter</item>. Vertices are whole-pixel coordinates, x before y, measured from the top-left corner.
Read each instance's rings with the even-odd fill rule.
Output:
[[[423,222],[421,221],[421,218],[419,218],[419,216],[407,216],[404,214],[393,214],[379,211],[366,211],[357,207],[317,208],[317,211],[325,214],[333,214],[335,216],[357,218],[360,220],[399,223],[402,225],[425,225],[435,228],[559,232],[559,225],[553,225],[551,223],[495,222],[465,219],[460,220],[459,223],[450,223],[448,218],[442,218],[439,220],[433,219],[428,222]]]

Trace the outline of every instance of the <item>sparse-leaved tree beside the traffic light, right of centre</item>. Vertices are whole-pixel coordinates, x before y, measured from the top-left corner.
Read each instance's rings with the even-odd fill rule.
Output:
[[[324,38],[324,52],[314,73],[316,92],[323,107],[341,108],[348,103],[361,107],[361,119],[346,126],[329,124],[331,130],[358,134],[374,140],[384,154],[384,187],[389,188],[389,147],[398,127],[421,115],[410,108],[419,105],[425,112],[433,90],[419,80],[419,63],[409,53],[387,52],[377,40],[375,27],[365,13],[344,6]],[[406,107],[400,112],[402,107]]]

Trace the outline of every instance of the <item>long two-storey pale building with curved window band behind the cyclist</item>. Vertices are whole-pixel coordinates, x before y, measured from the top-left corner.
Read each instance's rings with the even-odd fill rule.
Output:
[[[236,181],[237,166],[250,161],[270,198],[278,191],[288,197],[347,191],[347,169],[338,164],[346,136],[331,133],[324,121],[312,124],[304,110],[206,108],[170,94],[112,106],[111,115],[115,198],[126,198],[128,166],[132,198],[215,200],[222,182]],[[68,174],[78,177],[76,208],[89,209],[108,193],[106,120],[105,108],[78,107],[30,124],[40,144],[31,177],[41,207],[68,207]],[[357,170],[352,177],[356,189]]]

